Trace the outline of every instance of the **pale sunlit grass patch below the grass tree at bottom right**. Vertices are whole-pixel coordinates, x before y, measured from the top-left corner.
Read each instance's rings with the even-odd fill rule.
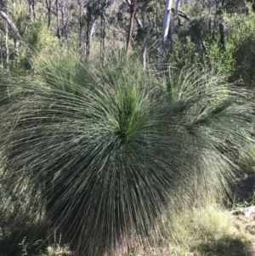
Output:
[[[175,251],[176,255],[190,252],[197,256],[245,256],[251,246],[252,237],[235,228],[234,216],[212,202],[204,208],[182,211],[173,218],[166,225],[165,236],[170,252]]]

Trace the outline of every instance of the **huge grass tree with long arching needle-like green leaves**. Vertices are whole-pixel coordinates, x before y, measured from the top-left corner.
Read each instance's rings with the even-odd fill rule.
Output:
[[[163,77],[125,58],[105,69],[70,63],[8,82],[0,142],[5,184],[39,190],[45,218],[77,255],[142,243],[163,214],[224,191],[234,166],[224,151],[251,139],[246,90],[209,71]]]

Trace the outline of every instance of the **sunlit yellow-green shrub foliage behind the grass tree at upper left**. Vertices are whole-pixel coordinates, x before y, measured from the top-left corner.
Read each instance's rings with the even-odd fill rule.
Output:
[[[42,18],[32,19],[27,13],[24,3],[10,5],[10,13],[20,32],[21,41],[17,48],[10,41],[14,52],[11,57],[9,69],[13,76],[24,76],[31,73],[31,59],[35,55],[41,59],[53,54],[53,47],[57,46],[58,40],[48,31],[45,21]]]

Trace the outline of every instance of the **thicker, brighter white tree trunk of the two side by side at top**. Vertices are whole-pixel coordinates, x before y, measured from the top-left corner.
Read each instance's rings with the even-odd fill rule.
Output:
[[[158,59],[158,62],[160,65],[162,64],[162,59],[163,59],[166,44],[167,44],[167,35],[169,31],[169,26],[170,26],[172,4],[173,4],[173,0],[167,0],[165,11],[164,11],[162,35],[161,35],[161,48],[160,48],[160,55]]]

